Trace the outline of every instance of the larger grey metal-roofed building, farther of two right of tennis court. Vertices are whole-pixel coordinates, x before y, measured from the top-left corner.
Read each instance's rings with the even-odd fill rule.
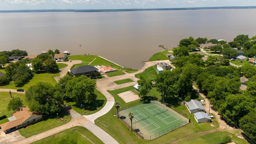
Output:
[[[204,106],[198,100],[190,100],[190,102],[185,102],[185,105],[188,108],[190,114],[205,111]]]

